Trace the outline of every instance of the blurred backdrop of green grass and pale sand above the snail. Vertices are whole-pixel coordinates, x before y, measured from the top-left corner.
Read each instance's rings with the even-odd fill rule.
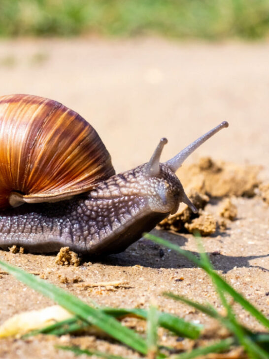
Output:
[[[269,0],[0,0],[0,95],[79,112],[116,171],[223,120],[202,155],[269,169]]]

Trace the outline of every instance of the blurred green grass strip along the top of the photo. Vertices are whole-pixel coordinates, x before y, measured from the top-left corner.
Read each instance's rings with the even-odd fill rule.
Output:
[[[0,36],[261,38],[269,0],[0,0]]]

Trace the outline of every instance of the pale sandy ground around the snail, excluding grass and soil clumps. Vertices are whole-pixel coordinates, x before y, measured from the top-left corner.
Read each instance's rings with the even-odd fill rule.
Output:
[[[83,115],[99,132],[112,155],[117,172],[143,163],[158,140],[166,136],[164,160],[222,120],[229,129],[204,144],[190,161],[202,155],[215,159],[264,166],[269,179],[269,43],[176,43],[159,39],[132,41],[17,40],[0,42],[0,94],[31,93],[58,100]],[[269,315],[269,208],[259,198],[234,198],[237,219],[227,230],[203,243],[217,270]],[[209,210],[214,212],[213,205]],[[182,248],[196,252],[191,235],[156,231]],[[184,258],[146,240],[101,262],[62,267],[53,255],[13,254],[6,260],[80,298],[114,307],[147,307],[211,326],[191,308],[164,299],[172,290],[201,298],[220,308],[202,270]],[[115,291],[72,284],[126,281]],[[67,282],[61,283],[67,277]],[[181,279],[183,278],[183,280]],[[180,280],[178,280],[180,279]],[[11,276],[0,274],[0,323],[21,311],[43,308],[51,301]],[[235,308],[240,320],[255,330],[259,323]],[[74,358],[58,352],[55,343],[83,343],[100,350],[127,355],[128,350],[93,337],[0,342],[0,358]],[[56,354],[57,353],[57,354]]]

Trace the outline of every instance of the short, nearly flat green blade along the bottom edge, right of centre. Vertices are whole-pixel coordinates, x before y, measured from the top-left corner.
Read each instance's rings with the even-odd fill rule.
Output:
[[[219,353],[225,350],[229,350],[230,347],[234,344],[233,338],[228,338],[224,340],[220,340],[217,343],[214,343],[212,345],[208,345],[203,348],[197,348],[192,350],[190,353],[183,353],[177,356],[173,356],[173,359],[193,359],[200,357],[202,355],[207,355],[210,353]]]

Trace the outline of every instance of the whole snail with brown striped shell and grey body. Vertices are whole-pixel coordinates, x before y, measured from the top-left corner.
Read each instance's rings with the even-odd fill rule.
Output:
[[[115,175],[99,135],[78,113],[42,97],[0,97],[0,248],[117,253],[180,202],[197,212],[175,172],[225,127],[226,121],[164,163],[162,138],[149,162]]]

